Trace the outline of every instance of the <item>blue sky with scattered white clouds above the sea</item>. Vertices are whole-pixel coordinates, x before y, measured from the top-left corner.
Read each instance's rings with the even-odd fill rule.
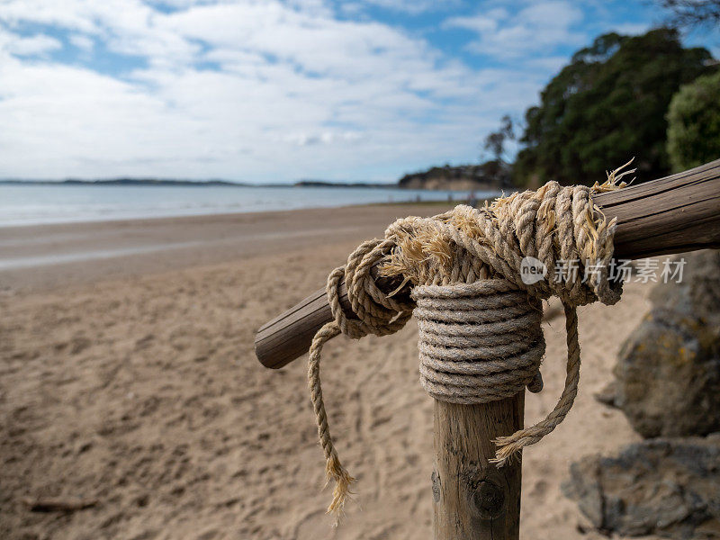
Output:
[[[664,16],[649,0],[0,0],[0,178],[390,182],[477,162],[575,50]],[[716,38],[685,40],[717,57]]]

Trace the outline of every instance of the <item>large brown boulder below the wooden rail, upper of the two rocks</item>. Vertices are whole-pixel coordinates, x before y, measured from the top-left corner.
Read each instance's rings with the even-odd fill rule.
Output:
[[[720,252],[684,256],[680,284],[658,284],[653,309],[620,351],[615,395],[643,437],[720,431]]]

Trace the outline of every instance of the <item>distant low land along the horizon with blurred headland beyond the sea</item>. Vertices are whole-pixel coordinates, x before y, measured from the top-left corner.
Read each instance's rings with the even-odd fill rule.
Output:
[[[0,179],[0,184],[33,185],[182,185],[182,186],[229,186],[229,187],[356,187],[356,188],[401,188],[428,189],[446,191],[499,191],[509,187],[509,165],[488,161],[480,165],[434,166],[426,171],[404,175],[394,184],[376,184],[372,182],[332,182],[326,180],[303,179],[293,184],[251,184],[229,180],[177,180],[163,178],[107,178],[83,180],[21,180],[16,178]]]

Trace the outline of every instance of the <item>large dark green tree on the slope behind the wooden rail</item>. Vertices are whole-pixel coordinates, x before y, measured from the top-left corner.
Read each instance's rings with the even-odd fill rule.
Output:
[[[527,110],[515,182],[592,183],[630,157],[639,180],[667,174],[665,112],[680,85],[711,69],[711,58],[707,49],[684,49],[666,28],[599,36]]]

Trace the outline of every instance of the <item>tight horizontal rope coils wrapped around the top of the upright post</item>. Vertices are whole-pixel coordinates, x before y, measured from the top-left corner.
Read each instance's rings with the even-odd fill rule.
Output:
[[[487,403],[536,381],[545,355],[539,300],[500,279],[424,285],[412,294],[420,383],[433,398]]]

